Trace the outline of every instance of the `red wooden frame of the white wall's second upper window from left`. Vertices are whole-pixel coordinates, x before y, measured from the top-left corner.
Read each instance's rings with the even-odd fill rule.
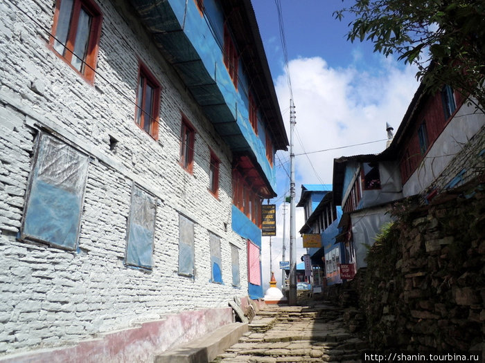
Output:
[[[135,99],[135,108],[134,108],[134,123],[136,126],[138,126],[140,129],[142,129],[145,133],[144,125],[146,122],[147,115],[145,112],[143,112],[143,109],[141,110],[141,120],[140,123],[137,122],[136,118],[138,115],[138,88],[141,82],[141,77],[144,77],[145,80],[150,84],[150,86],[153,89],[153,104],[152,104],[152,109],[150,110],[150,115],[148,118],[150,119],[151,125],[150,125],[150,135],[154,140],[158,140],[158,130],[159,130],[159,112],[160,112],[160,94],[161,94],[161,86],[159,82],[157,81],[157,78],[150,72],[147,66],[143,64],[142,62],[139,63],[139,68],[138,68],[138,82],[136,82],[136,99]],[[143,86],[143,91],[141,93],[142,95],[142,100],[141,104],[145,104],[145,90],[146,90],[146,84],[145,82]]]

